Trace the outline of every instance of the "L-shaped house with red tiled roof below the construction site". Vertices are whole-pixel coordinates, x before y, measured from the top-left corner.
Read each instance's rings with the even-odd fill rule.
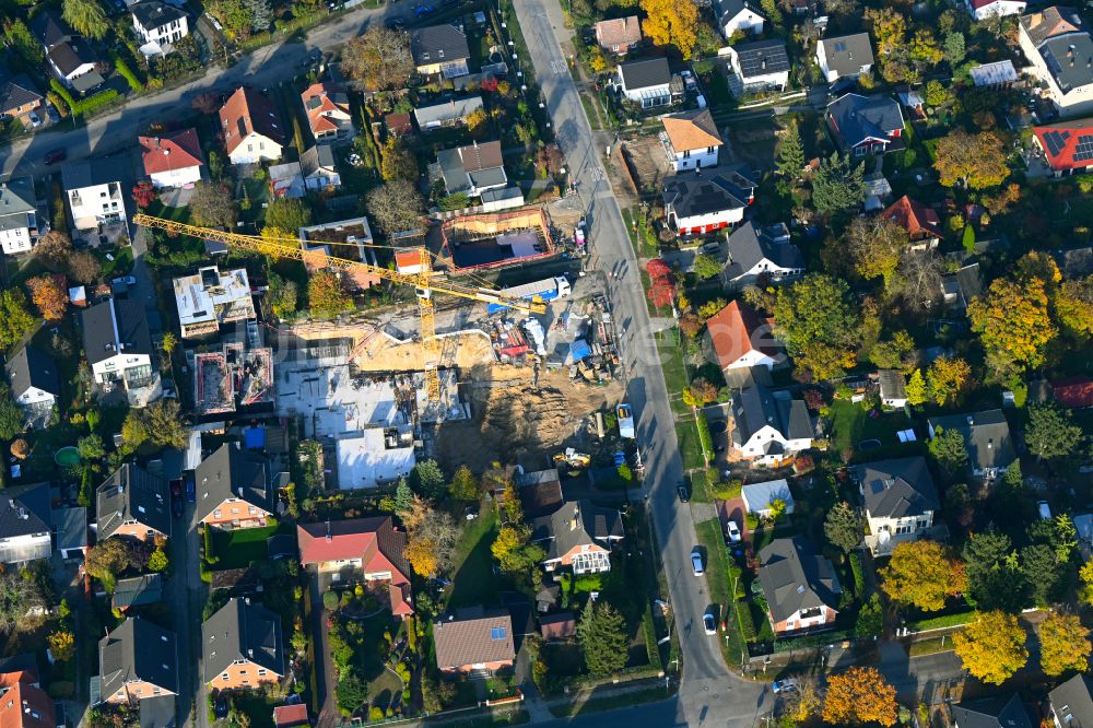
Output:
[[[336,583],[387,583],[391,612],[413,614],[407,535],[390,516],[327,520],[296,526],[299,563]]]

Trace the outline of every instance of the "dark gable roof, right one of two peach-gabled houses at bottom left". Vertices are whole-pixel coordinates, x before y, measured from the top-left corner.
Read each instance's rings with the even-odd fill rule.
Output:
[[[201,625],[201,654],[205,682],[235,660],[249,660],[283,676],[281,617],[250,599],[233,597]]]

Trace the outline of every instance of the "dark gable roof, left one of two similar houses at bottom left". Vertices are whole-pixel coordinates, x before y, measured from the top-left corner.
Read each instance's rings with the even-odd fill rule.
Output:
[[[127,683],[148,682],[178,693],[178,650],[175,634],[132,617],[98,641],[98,674],[103,696]]]

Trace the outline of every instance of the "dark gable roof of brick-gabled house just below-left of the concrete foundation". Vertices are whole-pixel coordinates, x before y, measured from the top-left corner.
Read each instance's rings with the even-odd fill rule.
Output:
[[[201,461],[195,472],[198,518],[205,518],[226,498],[242,498],[273,512],[270,461],[238,443],[225,443]]]

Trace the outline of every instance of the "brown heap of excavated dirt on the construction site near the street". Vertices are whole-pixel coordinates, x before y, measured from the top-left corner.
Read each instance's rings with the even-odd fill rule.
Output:
[[[480,371],[463,379],[471,420],[445,423],[436,432],[436,457],[446,468],[481,471],[494,461],[544,468],[566,446],[580,449],[589,415],[623,394],[618,383],[592,387],[572,383],[564,373],[543,374],[532,387],[530,369],[491,367],[503,368],[526,376],[486,379]]]

